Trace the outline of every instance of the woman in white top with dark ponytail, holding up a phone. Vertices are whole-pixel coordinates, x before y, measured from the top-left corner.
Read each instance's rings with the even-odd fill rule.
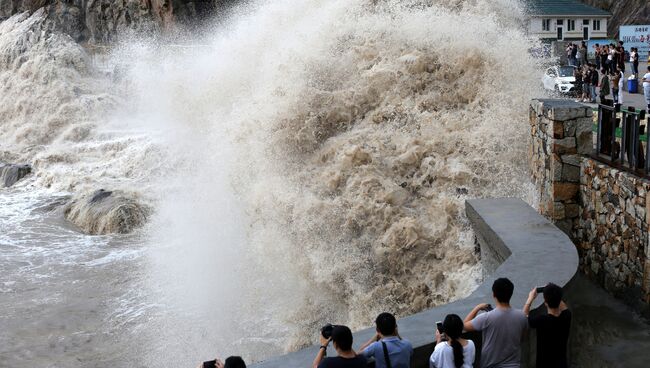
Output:
[[[441,331],[442,329],[442,331]],[[429,358],[430,368],[472,368],[476,347],[472,340],[463,339],[463,320],[448,314],[442,326],[436,328],[436,347]],[[443,340],[443,335],[447,340]]]

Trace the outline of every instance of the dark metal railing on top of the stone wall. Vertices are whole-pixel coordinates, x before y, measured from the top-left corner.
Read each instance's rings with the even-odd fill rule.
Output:
[[[605,101],[598,105],[596,153],[600,160],[641,176],[650,174],[650,145],[645,110],[621,108]],[[649,119],[650,120],[650,119]],[[645,143],[645,147],[644,147]]]

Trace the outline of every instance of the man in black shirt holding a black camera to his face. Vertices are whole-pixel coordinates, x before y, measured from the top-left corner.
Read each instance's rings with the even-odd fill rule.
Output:
[[[332,341],[338,356],[325,358],[327,345]],[[320,349],[314,359],[313,368],[366,368],[368,361],[363,355],[357,355],[352,350],[352,331],[347,326],[334,326],[332,337],[320,336]]]

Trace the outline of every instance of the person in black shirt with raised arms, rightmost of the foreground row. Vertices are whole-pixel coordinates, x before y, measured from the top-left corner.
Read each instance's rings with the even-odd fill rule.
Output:
[[[530,306],[537,288],[528,294],[524,314],[528,325],[537,330],[537,368],[568,368],[567,343],[571,329],[571,311],[562,301],[562,288],[549,283],[544,287],[546,313],[531,316]]]

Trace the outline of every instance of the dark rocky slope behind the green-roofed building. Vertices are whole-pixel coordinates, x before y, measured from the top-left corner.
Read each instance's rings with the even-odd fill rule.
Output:
[[[613,17],[607,31],[618,35],[618,27],[625,24],[650,24],[650,1],[648,0],[583,0],[584,3],[607,10]]]

